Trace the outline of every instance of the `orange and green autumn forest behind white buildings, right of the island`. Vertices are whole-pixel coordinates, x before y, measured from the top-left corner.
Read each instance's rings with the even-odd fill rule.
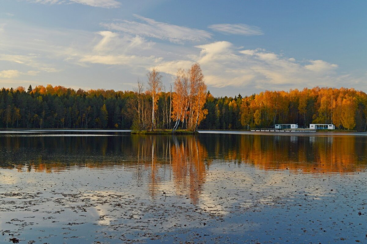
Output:
[[[265,91],[242,97],[214,98],[208,94],[208,109],[201,128],[273,128],[274,124],[334,124],[339,129],[366,131],[367,95],[347,88],[304,88],[302,91]]]

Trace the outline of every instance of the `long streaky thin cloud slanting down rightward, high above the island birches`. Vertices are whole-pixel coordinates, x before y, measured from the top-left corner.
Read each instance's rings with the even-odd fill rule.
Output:
[[[101,25],[110,30],[168,40],[173,43],[181,43],[183,41],[200,42],[212,37],[212,34],[205,30],[158,22],[140,15],[134,15],[134,17],[139,21],[116,20],[113,23],[102,23]]]

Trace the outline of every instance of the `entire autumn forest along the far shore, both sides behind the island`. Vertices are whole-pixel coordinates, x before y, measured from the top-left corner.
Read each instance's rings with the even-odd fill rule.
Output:
[[[152,120],[153,103],[149,91],[75,91],[52,85],[39,85],[34,89],[30,86],[28,91],[23,87],[3,88],[0,91],[0,127],[129,129],[140,116],[146,128],[152,123],[155,128],[173,128],[173,119],[178,114],[177,109],[170,108],[173,106],[171,94],[173,98],[175,92],[162,90],[156,93]],[[137,102],[146,108],[140,108],[140,114],[136,110]],[[200,129],[243,130],[272,127],[275,123],[296,123],[299,127],[333,123],[340,129],[366,131],[367,123],[366,93],[346,88],[265,91],[245,97],[239,94],[234,98],[215,98],[207,92],[205,113],[206,109]],[[189,117],[190,114],[180,119],[178,128],[188,127]],[[194,122],[196,117],[192,115]]]

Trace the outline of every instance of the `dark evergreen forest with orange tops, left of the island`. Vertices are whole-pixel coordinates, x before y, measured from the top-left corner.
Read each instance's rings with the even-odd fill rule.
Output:
[[[0,92],[2,128],[130,128],[134,92],[39,85]]]

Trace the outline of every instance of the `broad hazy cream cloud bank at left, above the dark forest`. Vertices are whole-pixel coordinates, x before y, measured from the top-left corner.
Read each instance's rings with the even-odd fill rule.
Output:
[[[129,67],[130,72],[137,69],[146,72],[145,67],[161,60],[153,55],[156,50],[151,47],[155,43],[128,33],[50,30],[17,22],[9,22],[5,27],[3,33],[0,32],[0,39],[4,40],[0,42],[0,61],[8,65],[8,69],[22,70],[21,75],[41,73],[45,76],[75,69],[75,66],[88,68],[89,64],[99,65],[101,69],[123,65]],[[34,72],[26,72],[29,67]]]

